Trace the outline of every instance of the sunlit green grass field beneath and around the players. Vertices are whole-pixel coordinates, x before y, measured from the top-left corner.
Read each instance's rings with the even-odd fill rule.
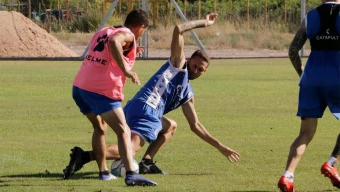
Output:
[[[141,83],[164,62],[137,61],[134,70]],[[169,175],[147,175],[159,184],[153,188],[126,187],[122,178],[99,181],[95,162],[71,179],[61,179],[69,150],[75,145],[91,148],[92,127],[71,96],[80,65],[0,61],[0,191],[278,191],[300,126],[295,116],[299,78],[289,59],[213,60],[204,76],[192,81],[195,108],[207,130],[237,150],[241,160],[229,163],[200,140],[177,109],[167,115],[177,122],[177,132],[154,158]],[[125,101],[138,89],[128,81]],[[296,170],[296,191],[335,190],[320,167],[333,150],[339,127],[326,109]],[[116,143],[112,130],[106,141]]]

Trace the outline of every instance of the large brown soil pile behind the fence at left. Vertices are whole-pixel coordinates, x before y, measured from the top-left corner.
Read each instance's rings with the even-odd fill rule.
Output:
[[[18,12],[0,11],[0,57],[79,56]]]

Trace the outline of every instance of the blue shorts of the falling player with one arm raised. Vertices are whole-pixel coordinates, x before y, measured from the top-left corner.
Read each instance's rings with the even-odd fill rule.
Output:
[[[162,130],[162,116],[150,105],[141,101],[128,102],[124,107],[126,122],[131,133],[152,143]]]

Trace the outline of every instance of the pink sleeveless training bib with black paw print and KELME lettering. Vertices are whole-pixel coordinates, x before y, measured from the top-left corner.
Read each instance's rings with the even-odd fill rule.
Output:
[[[136,60],[135,35],[126,27],[105,27],[99,30],[90,42],[80,70],[74,78],[73,85],[87,91],[122,101],[126,76],[113,58],[108,40],[119,32],[128,32],[134,36],[130,51],[123,57],[127,70],[131,70]]]

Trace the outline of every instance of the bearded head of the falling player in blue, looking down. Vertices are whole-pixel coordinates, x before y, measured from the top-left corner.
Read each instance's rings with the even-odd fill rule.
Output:
[[[208,54],[202,50],[197,50],[187,60],[187,70],[189,79],[196,79],[203,75],[210,63]]]

